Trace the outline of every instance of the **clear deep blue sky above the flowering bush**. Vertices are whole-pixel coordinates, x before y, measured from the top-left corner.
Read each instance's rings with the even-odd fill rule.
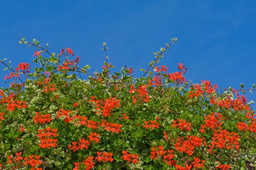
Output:
[[[116,68],[132,66],[140,76],[153,52],[177,37],[160,64],[175,70],[184,63],[186,78],[194,83],[206,79],[221,88],[240,83],[251,88],[255,11],[255,0],[2,0],[0,58],[15,67],[32,63],[34,49],[18,41],[36,38],[49,43],[50,51],[71,47],[93,72],[102,66],[101,44],[107,42],[109,61]],[[5,74],[1,71],[2,80]],[[256,92],[247,97],[256,101]]]

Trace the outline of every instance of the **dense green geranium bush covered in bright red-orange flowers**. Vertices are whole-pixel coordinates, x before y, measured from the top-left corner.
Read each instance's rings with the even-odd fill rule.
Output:
[[[1,170],[245,170],[256,167],[256,117],[241,94],[209,81],[188,82],[187,68],[159,66],[166,48],[144,75],[132,68],[102,72],[79,66],[71,48],[58,54],[39,41],[39,67],[27,63],[10,72],[0,90]],[[255,85],[250,91],[254,90]]]

